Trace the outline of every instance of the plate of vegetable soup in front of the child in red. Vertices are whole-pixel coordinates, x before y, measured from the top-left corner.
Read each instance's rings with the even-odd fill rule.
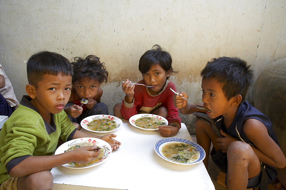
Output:
[[[159,126],[168,125],[168,120],[154,114],[137,114],[129,119],[129,123],[141,130],[155,131]]]

